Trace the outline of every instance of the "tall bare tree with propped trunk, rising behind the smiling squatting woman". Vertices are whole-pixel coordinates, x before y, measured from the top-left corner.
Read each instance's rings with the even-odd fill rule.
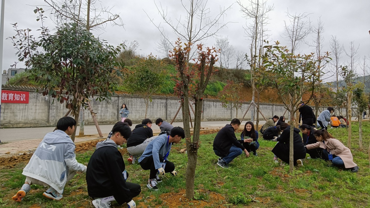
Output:
[[[245,30],[245,34],[248,38],[250,38],[250,81],[252,85],[252,102],[250,105],[252,106],[251,109],[251,120],[254,121],[254,102],[255,102],[255,71],[259,67],[257,66],[257,63],[260,61],[257,60],[259,57],[260,52],[263,52],[263,41],[269,37],[269,35],[266,33],[268,30],[265,28],[265,26],[268,24],[269,16],[268,12],[273,10],[273,6],[267,6],[266,1],[262,0],[249,0],[248,6],[243,6],[241,1],[237,1],[237,3],[240,6],[240,11],[243,14],[243,17],[245,17],[247,20],[251,20],[251,22],[248,24],[246,23],[246,26],[243,27]],[[249,109],[249,108],[248,108]],[[246,114],[246,113],[245,113]],[[258,114],[257,114],[258,117]],[[243,117],[244,118],[244,117]],[[242,120],[243,120],[242,118]]]

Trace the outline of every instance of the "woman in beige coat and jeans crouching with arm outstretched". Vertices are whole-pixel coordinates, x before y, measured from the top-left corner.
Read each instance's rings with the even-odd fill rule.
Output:
[[[353,162],[351,150],[344,146],[342,142],[335,139],[325,129],[317,130],[313,135],[318,142],[308,144],[306,146],[307,150],[321,147],[324,149],[323,153],[329,157],[329,160],[331,160],[335,166],[346,168],[347,170],[351,170],[353,173],[357,173],[357,171],[359,171],[359,167]]]

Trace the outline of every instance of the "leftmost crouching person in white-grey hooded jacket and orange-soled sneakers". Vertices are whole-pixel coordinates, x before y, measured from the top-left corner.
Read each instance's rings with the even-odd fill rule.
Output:
[[[60,200],[65,183],[74,177],[76,171],[86,172],[87,167],[76,160],[75,144],[69,137],[75,125],[76,121],[72,117],[63,117],[58,120],[57,130],[45,135],[23,169],[26,181],[12,197],[14,201],[21,202],[31,190],[31,184],[49,186],[43,193],[44,197]]]

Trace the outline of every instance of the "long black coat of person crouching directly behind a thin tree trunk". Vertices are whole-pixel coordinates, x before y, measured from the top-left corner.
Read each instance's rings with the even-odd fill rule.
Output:
[[[306,157],[306,147],[303,145],[302,137],[299,134],[300,130],[294,128],[293,130],[293,160],[303,159]],[[289,139],[290,139],[290,126],[282,132],[276,146],[271,150],[280,160],[289,163]]]

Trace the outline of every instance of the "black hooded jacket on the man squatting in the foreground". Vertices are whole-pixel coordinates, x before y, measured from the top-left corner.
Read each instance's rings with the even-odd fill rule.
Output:
[[[111,139],[98,142],[87,165],[88,195],[93,198],[114,196],[120,205],[131,201],[131,191],[122,174],[124,170],[125,163],[117,144]]]

